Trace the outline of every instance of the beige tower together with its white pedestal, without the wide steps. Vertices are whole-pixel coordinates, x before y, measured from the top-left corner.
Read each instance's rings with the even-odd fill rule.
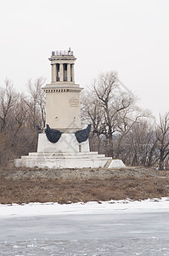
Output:
[[[71,50],[56,50],[48,60],[51,61],[51,83],[42,87],[46,92],[47,129],[39,134],[37,152],[89,152],[87,137],[80,143],[76,139],[82,129],[82,88],[75,84],[76,57]]]

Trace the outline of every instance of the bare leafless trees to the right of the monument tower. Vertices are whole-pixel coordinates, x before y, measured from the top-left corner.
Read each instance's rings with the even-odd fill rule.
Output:
[[[121,90],[115,72],[100,74],[82,95],[82,121],[91,123],[92,151],[127,166],[168,168],[169,112],[155,120],[148,110],[138,108],[138,99]]]

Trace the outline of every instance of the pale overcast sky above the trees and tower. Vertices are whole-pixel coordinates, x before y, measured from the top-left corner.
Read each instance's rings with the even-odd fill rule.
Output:
[[[169,111],[168,0],[0,0],[0,85],[50,82],[52,50],[76,56],[76,84],[116,71],[156,116]]]

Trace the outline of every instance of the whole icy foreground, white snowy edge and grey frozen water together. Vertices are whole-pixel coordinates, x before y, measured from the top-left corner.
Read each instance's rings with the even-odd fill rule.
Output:
[[[0,205],[0,255],[169,255],[169,198]]]

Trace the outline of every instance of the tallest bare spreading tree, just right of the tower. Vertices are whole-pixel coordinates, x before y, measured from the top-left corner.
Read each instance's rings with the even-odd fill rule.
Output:
[[[138,119],[134,113],[136,101],[136,97],[120,90],[115,72],[102,73],[94,81],[92,90],[87,91],[82,101],[82,116],[86,115],[91,120],[93,133],[100,138],[100,143],[104,143],[106,154],[115,157],[120,154],[123,137]],[[139,115],[143,116],[143,113]],[[119,144],[116,147],[117,137]]]

